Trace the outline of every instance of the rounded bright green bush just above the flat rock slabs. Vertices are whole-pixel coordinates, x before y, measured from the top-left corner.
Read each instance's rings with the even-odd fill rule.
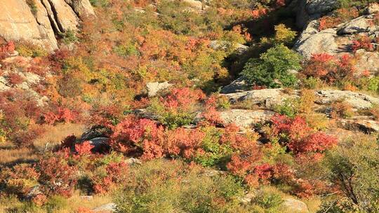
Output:
[[[291,71],[300,69],[300,56],[283,44],[267,50],[259,59],[245,65],[241,75],[248,83],[267,88],[291,87],[297,78]]]

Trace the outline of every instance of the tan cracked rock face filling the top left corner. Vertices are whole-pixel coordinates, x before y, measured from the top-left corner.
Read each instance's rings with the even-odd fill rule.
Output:
[[[88,0],[34,0],[32,12],[25,0],[1,1],[0,36],[7,41],[25,40],[52,51],[55,36],[77,31],[80,18],[95,15]]]

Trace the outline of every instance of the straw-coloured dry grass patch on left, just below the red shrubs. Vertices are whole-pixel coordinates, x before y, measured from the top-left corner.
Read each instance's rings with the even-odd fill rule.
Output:
[[[34,140],[33,145],[37,150],[54,147],[62,142],[68,135],[80,137],[85,125],[77,123],[60,123],[58,125],[45,125],[45,133]]]

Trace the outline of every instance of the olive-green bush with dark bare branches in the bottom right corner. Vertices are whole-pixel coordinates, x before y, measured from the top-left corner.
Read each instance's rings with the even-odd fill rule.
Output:
[[[375,138],[361,136],[347,139],[328,152],[328,177],[342,194],[328,204],[332,208],[326,212],[378,210],[378,149]]]

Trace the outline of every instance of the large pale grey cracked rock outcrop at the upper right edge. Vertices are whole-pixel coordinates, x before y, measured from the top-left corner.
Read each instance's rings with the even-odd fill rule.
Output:
[[[304,31],[296,41],[294,49],[305,59],[309,59],[313,54],[317,53],[329,53],[336,56],[355,54],[357,64],[359,64],[357,70],[359,72],[368,70],[375,74],[375,72],[379,71],[379,52],[363,49],[358,50],[357,53],[352,51],[352,43],[357,39],[357,36],[379,37],[379,26],[374,24],[374,13],[379,13],[379,11],[375,9],[375,6],[376,4],[373,4],[373,6],[368,7],[365,15],[321,31],[319,30],[319,20],[317,20],[319,15],[307,19],[305,18],[307,17],[306,14],[299,13],[298,19],[307,19],[307,24],[305,24]],[[325,8],[328,11],[333,7],[325,6],[321,8]],[[378,46],[378,44],[373,45]]]

